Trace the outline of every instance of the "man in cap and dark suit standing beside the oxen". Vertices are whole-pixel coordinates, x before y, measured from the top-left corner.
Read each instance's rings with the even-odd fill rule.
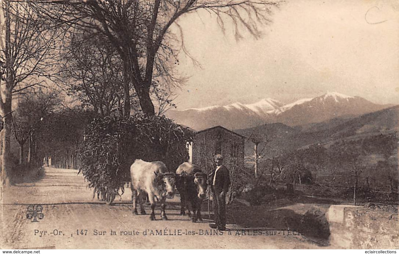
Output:
[[[211,174],[213,193],[213,210],[215,211],[215,224],[209,224],[212,229],[225,230],[226,228],[226,193],[230,186],[229,170],[222,165],[223,156],[215,155],[216,169]]]

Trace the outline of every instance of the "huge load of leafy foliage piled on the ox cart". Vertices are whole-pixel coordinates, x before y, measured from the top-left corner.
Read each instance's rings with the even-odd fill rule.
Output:
[[[192,136],[188,128],[164,116],[96,118],[86,127],[79,147],[79,172],[94,195],[107,199],[106,195],[114,193],[115,197],[130,182],[130,165],[135,159],[160,160],[174,172],[188,161],[186,146]]]

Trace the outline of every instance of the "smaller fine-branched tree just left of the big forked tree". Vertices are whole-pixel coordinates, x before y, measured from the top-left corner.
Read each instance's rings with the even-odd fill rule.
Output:
[[[123,115],[122,63],[113,49],[96,39],[76,34],[64,51],[61,76],[68,94],[84,107],[93,109],[96,115],[114,112]]]

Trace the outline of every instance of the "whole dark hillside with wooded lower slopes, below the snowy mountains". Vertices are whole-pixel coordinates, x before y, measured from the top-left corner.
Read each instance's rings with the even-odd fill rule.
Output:
[[[298,182],[300,175],[302,183],[312,183],[302,186],[310,188],[309,193],[319,191],[321,195],[351,198],[357,183],[360,197],[394,202],[399,184],[398,122],[399,106],[395,106],[296,128],[270,124],[237,132],[249,137],[269,135],[258,163],[267,184],[273,169],[273,174],[278,176],[275,181],[280,185],[292,184],[294,179]],[[250,139],[246,140],[245,149],[250,162],[253,160]],[[248,172],[253,174],[252,169]]]

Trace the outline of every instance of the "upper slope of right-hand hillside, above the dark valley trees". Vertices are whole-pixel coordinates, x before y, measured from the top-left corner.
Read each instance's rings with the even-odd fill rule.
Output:
[[[279,154],[288,154],[296,149],[306,149],[312,145],[329,148],[344,140],[374,140],[378,137],[393,137],[399,131],[399,106],[390,107],[359,117],[338,117],[322,123],[309,124],[302,127],[288,127],[282,123],[261,125],[255,128],[237,130],[246,137],[267,137],[269,142],[265,149],[265,157],[271,158]],[[364,141],[363,141],[364,142]],[[265,144],[261,144],[262,148]],[[245,154],[253,155],[253,143],[246,140]],[[380,148],[381,149],[381,148]],[[378,153],[378,150],[374,150]]]

